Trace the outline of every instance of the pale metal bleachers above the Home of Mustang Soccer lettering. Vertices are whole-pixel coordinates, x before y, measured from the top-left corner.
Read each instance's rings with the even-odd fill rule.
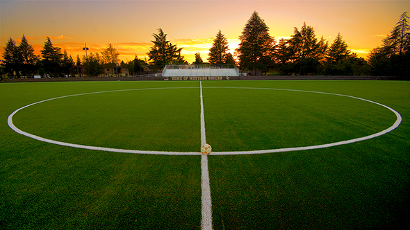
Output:
[[[231,77],[239,76],[233,64],[167,64],[163,77]]]

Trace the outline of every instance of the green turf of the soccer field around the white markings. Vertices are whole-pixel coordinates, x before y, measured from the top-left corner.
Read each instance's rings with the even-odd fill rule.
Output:
[[[321,145],[317,150],[209,155],[214,229],[404,229],[410,210],[410,82],[203,81],[213,151]],[[102,92],[99,94],[85,94]],[[200,229],[199,82],[0,84],[0,229]]]

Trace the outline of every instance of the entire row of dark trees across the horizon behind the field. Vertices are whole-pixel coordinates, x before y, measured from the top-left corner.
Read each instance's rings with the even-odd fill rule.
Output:
[[[239,37],[240,44],[233,55],[229,52],[227,38],[219,30],[208,51],[208,62],[202,60],[200,53],[195,53],[195,62],[192,64],[236,64],[245,71],[277,75],[408,75],[410,26],[407,12],[400,16],[391,34],[383,39],[382,46],[370,51],[367,60],[352,53],[340,33],[329,44],[323,37],[318,39],[313,27],[306,23],[300,29],[295,27],[289,39],[279,41],[269,34],[269,30],[255,11],[245,24]],[[161,28],[153,37],[147,53],[148,61],[136,56],[132,61],[121,63],[130,74],[142,71],[143,66],[161,71],[167,64],[188,64],[181,55],[182,48],[167,40]],[[86,75],[99,76],[104,73],[104,67],[120,64],[119,55],[109,43],[101,54],[90,53],[82,58],[77,55],[74,63],[67,51],[62,52],[61,48],[53,46],[49,37],[44,42],[41,55],[35,55],[33,46],[28,44],[23,35],[18,46],[11,38],[6,43],[1,71],[2,75],[17,77],[34,74],[60,77],[69,75],[70,67],[75,64],[82,64]]]

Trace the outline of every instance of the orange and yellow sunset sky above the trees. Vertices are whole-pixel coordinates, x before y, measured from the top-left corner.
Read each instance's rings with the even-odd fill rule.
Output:
[[[1,53],[9,37],[19,44],[24,34],[35,53],[42,50],[45,37],[67,50],[74,61],[77,54],[85,55],[85,43],[89,53],[100,53],[111,43],[126,62],[135,55],[147,56],[152,34],[162,28],[191,63],[197,52],[207,61],[218,30],[229,39],[233,52],[254,11],[277,40],[290,37],[294,28],[300,29],[306,21],[318,39],[323,36],[331,44],[341,33],[353,52],[366,57],[382,44],[400,15],[410,12],[410,1],[1,0],[0,9]]]

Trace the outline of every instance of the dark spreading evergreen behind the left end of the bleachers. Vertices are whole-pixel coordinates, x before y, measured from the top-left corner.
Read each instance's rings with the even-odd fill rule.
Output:
[[[186,62],[181,56],[182,48],[177,48],[177,45],[167,41],[167,35],[161,28],[158,28],[158,34],[153,35],[155,40],[151,50],[147,53],[149,61],[151,61],[158,69],[163,69],[167,64],[179,64]]]

